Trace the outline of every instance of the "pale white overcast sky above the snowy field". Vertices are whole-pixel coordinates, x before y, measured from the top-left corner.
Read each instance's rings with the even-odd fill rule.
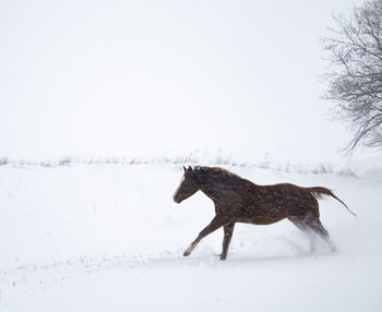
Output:
[[[354,2],[0,0],[0,156],[341,158],[320,37]]]

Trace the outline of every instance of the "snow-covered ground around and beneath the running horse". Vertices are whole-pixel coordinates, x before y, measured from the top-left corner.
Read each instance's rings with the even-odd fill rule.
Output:
[[[172,202],[180,165],[0,166],[0,311],[382,311],[382,173],[298,175],[226,166],[259,184],[333,189],[321,219],[339,251],[288,220],[237,225],[182,252],[213,217]]]

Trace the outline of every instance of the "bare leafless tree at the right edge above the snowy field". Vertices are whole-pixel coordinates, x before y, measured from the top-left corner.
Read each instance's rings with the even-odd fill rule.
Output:
[[[382,0],[356,7],[349,16],[334,17],[337,29],[323,38],[331,62],[324,98],[336,104],[353,140],[346,147],[382,146]]]

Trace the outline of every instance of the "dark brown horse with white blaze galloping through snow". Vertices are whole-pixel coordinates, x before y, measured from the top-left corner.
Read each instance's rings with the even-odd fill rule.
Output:
[[[236,223],[270,225],[284,218],[288,218],[306,233],[318,233],[332,251],[336,250],[327,230],[320,221],[317,199],[330,195],[344,204],[348,211],[349,208],[331,190],[321,187],[301,188],[289,183],[256,185],[222,168],[183,167],[183,169],[184,176],[174,194],[174,201],[179,204],[196,191],[202,191],[214,202],[216,213],[210,225],[184,251],[184,256],[190,255],[204,237],[224,227],[220,260],[225,260]],[[314,237],[311,235],[309,237],[313,251]]]

